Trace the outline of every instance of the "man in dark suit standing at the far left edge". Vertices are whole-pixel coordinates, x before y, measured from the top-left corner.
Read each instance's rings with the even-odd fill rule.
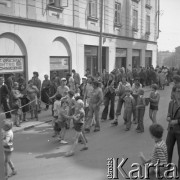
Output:
[[[4,84],[4,78],[0,77],[0,105],[3,106],[6,113],[6,119],[11,118],[10,105],[9,105],[9,90],[6,84]]]

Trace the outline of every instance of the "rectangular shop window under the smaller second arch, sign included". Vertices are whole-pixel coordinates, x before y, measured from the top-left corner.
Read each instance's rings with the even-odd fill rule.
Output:
[[[59,78],[66,77],[67,72],[70,72],[70,57],[50,56],[50,78],[54,72]]]

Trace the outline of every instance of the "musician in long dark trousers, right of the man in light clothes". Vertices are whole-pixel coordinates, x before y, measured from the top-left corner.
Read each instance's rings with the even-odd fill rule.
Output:
[[[104,110],[102,112],[101,120],[105,121],[107,120],[108,111],[109,111],[109,104],[111,104],[110,107],[110,113],[109,113],[109,120],[114,119],[114,104],[115,104],[115,77],[111,73],[109,74],[109,80],[106,84],[104,84]]]

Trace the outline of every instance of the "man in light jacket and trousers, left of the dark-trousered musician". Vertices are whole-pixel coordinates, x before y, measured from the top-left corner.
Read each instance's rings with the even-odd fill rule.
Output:
[[[93,91],[89,100],[89,112],[88,112],[88,119],[86,123],[86,132],[90,132],[90,126],[93,118],[93,114],[95,114],[95,129],[94,132],[100,131],[100,123],[99,123],[99,111],[100,105],[103,102],[103,92],[102,89],[99,87],[99,82],[93,82]]]

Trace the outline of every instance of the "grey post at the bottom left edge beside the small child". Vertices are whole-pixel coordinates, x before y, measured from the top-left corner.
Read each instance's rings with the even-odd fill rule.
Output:
[[[4,169],[4,148],[2,144],[2,126],[3,126],[3,117],[1,115],[2,109],[0,105],[0,180],[5,180],[5,169]]]

